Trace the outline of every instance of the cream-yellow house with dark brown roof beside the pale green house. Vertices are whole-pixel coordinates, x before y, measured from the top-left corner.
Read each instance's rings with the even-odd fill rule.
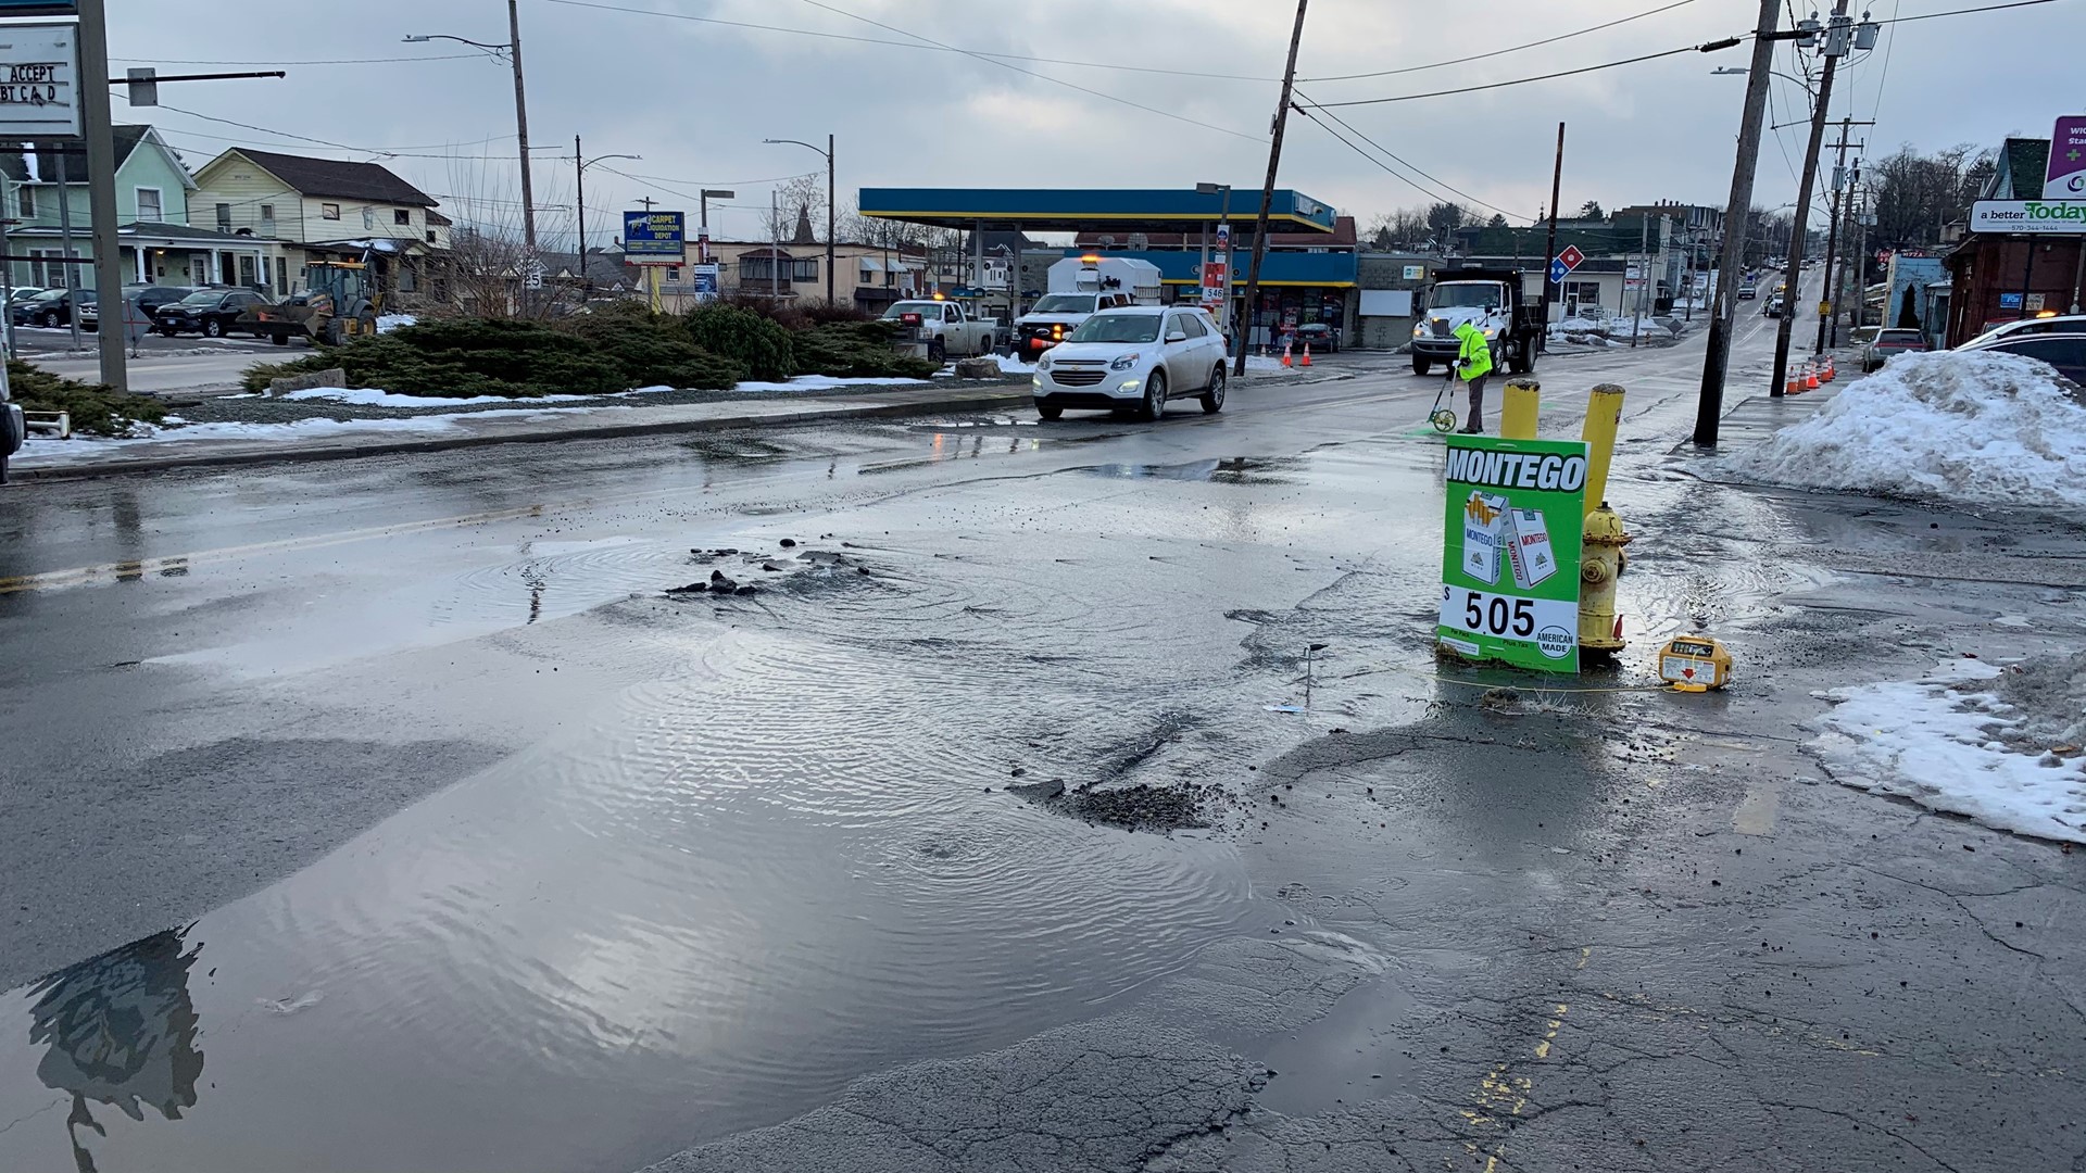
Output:
[[[192,223],[277,240],[294,292],[305,261],[367,261],[388,307],[446,298],[451,221],[378,163],[234,146],[196,169]]]

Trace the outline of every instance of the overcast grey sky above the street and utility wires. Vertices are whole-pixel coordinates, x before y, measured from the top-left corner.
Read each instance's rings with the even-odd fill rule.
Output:
[[[1875,17],[1994,0],[1882,0]],[[1423,67],[1665,4],[1671,0],[1312,0],[1297,75]],[[315,0],[108,0],[117,71],[290,71],[284,81],[161,90],[165,102],[192,113],[129,111],[119,90],[117,119],[159,125],[190,167],[234,144],[373,159],[442,196],[453,213],[511,215],[515,127],[505,65],[455,42],[401,44],[407,33],[505,42],[505,0],[323,6],[334,15],[311,19],[321,8]],[[1389,77],[1302,81],[1300,90],[1341,102],[1506,81],[1738,35],[1756,13],[1752,0],[1685,0],[1542,48]],[[1185,188],[1208,179],[1258,188],[1293,15],[1287,0],[522,0],[536,202],[563,209],[542,213],[542,232],[569,242],[574,134],[584,136],[588,157],[642,154],[588,169],[592,240],[613,236],[613,213],[640,196],[693,215],[699,186],[738,192],[730,207],[711,209],[715,236],[755,234],[776,179],[824,167],[801,146],[763,146],[761,138],[824,142],[828,131],[839,136],[843,202],[862,186]],[[916,38],[1093,65],[995,65]],[[1844,63],[1832,115],[1873,117],[1877,125],[1857,136],[1867,136],[1875,154],[1900,142],[1938,148],[2046,136],[2055,115],[2086,111],[2080,44],[2086,0],[1886,27],[1877,52]],[[1711,69],[1744,67],[1746,54],[1744,46],[1688,52],[1481,94],[1335,111],[1433,175],[1410,175],[1433,196],[1291,117],[1279,186],[1364,223],[1435,196],[1529,219],[1548,202],[1562,119],[1564,209],[1590,198],[1608,209],[1658,198],[1723,205],[1744,79],[1713,77]],[[384,61],[302,65],[344,58]],[[1781,50],[1777,69],[1798,73],[1802,65]],[[1804,102],[1796,86],[1775,83],[1775,121],[1800,119]],[[1779,131],[1779,146],[1773,138],[1763,146],[1756,205],[1794,198],[1802,144],[1804,127],[1792,125]],[[459,209],[463,198],[476,202]]]

